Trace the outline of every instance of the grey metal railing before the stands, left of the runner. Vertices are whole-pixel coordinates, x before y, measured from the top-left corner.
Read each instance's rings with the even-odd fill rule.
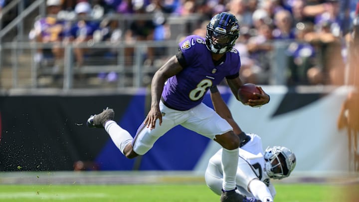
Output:
[[[40,62],[36,62],[34,57],[37,53],[38,48],[50,49],[53,44],[48,43],[33,43],[33,42],[4,42],[2,43],[2,50],[5,52],[10,52],[10,57],[4,58],[7,66],[11,66],[11,78],[1,78],[11,80],[7,82],[9,88],[39,88],[42,87],[39,85],[39,77],[55,77],[55,74],[52,74],[53,63],[51,60],[53,58],[43,58]],[[57,44],[62,46],[64,49],[64,58],[63,58],[63,74],[60,75],[63,77],[62,86],[57,86],[68,90],[74,88],[74,81],[76,81],[76,75],[86,75],[91,74],[96,78],[96,74],[102,72],[114,72],[117,74],[118,79],[116,81],[116,88],[122,87],[144,87],[147,83],[143,80],[144,75],[153,74],[159,67],[162,65],[162,62],[155,62],[154,64],[144,64],[146,50],[148,47],[161,48],[161,55],[157,55],[156,61],[159,61],[160,58],[165,61],[169,56],[174,55],[178,51],[178,41],[141,41],[136,44],[126,44],[126,43],[109,43],[109,42],[99,42],[99,43],[83,43],[74,45],[69,44]],[[85,58],[84,65],[80,68],[76,67],[74,59],[74,48],[91,48],[92,50],[101,51],[112,51],[115,54],[112,56],[113,62],[108,62],[108,57],[102,57],[96,54],[89,55]],[[126,48],[134,48],[134,55],[132,58],[132,64],[125,64],[124,62],[124,51]],[[97,51],[97,52],[99,52]],[[96,51],[95,51],[96,52]],[[99,61],[95,61],[96,64],[91,64],[93,57],[100,58]],[[44,63],[45,60],[49,60],[47,65],[41,65],[41,62]],[[92,60],[93,61],[93,60]],[[98,64],[103,62],[103,64]],[[19,76],[21,75],[21,76]],[[86,81],[84,81],[86,82]],[[2,86],[4,86],[4,80],[1,81]],[[51,85],[50,85],[51,86]],[[101,87],[99,85],[98,87]]]

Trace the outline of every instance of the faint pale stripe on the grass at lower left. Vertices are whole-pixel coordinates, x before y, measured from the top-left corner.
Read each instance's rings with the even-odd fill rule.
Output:
[[[37,194],[36,192],[5,192],[0,193],[0,200],[2,199],[51,199],[51,200],[68,200],[68,199],[77,199],[77,198],[105,198],[107,194],[102,193],[87,193],[77,194],[77,193],[41,193]]]

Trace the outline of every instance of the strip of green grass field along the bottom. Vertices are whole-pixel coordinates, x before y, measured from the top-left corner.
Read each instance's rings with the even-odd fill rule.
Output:
[[[275,202],[345,202],[345,186],[275,184]],[[359,187],[351,187],[357,190]],[[349,189],[349,188],[348,188]],[[0,185],[1,202],[219,202],[203,184]],[[353,201],[354,202],[354,201]]]

